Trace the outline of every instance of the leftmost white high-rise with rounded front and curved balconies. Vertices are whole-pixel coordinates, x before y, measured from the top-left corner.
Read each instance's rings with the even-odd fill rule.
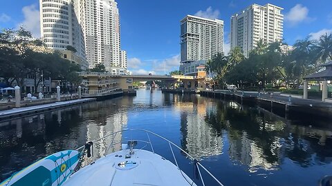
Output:
[[[73,0],[79,1],[79,0]],[[82,28],[70,0],[39,0],[40,28],[48,48],[64,50],[72,45],[85,58]]]

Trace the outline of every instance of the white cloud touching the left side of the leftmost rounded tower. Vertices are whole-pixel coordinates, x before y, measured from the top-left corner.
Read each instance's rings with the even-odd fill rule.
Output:
[[[35,4],[24,6],[22,12],[24,21],[19,23],[18,27],[23,26],[26,30],[32,32],[34,37],[40,37],[40,15],[37,6]]]

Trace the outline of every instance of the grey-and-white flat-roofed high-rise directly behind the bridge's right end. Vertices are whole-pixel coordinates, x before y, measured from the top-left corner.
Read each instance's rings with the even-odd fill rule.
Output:
[[[181,20],[181,64],[223,52],[223,21],[187,15]]]

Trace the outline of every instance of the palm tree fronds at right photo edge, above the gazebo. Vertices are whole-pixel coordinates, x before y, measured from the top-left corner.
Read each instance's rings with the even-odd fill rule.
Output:
[[[326,59],[332,60],[332,34],[325,34],[320,37],[317,45],[317,57],[325,62]]]

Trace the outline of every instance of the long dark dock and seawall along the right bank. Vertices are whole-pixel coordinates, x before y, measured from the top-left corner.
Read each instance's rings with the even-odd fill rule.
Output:
[[[229,90],[202,90],[199,94],[216,99],[234,100],[239,103],[255,103],[266,110],[284,112],[285,114],[310,114],[332,118],[332,103],[318,99],[302,99],[299,95],[280,94],[280,92],[246,92]]]

